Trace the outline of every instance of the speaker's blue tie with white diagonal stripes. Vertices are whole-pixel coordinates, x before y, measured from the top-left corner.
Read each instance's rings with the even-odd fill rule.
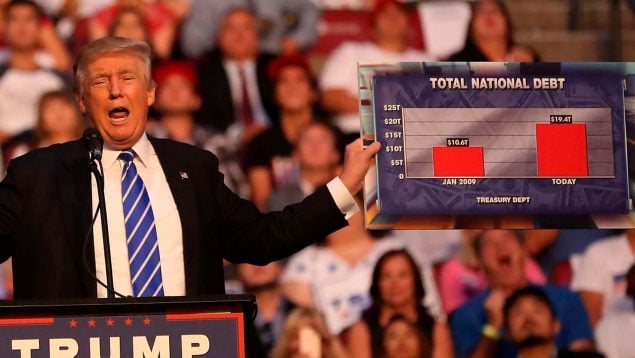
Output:
[[[132,149],[119,154],[124,161],[121,195],[128,243],[132,290],[135,297],[163,296],[159,242],[150,197],[137,173]]]

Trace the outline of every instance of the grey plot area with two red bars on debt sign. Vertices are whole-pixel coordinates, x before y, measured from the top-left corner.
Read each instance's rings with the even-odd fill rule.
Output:
[[[406,178],[615,175],[611,108],[404,108],[403,122]]]

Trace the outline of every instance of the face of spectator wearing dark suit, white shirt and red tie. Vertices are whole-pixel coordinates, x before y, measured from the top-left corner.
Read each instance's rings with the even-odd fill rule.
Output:
[[[230,60],[254,59],[258,52],[258,27],[254,16],[241,10],[228,13],[220,28],[218,45],[223,56]]]

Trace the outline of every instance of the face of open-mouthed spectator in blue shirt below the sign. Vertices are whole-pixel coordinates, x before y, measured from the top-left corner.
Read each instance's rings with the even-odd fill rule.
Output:
[[[525,284],[525,252],[513,231],[484,232],[480,239],[479,258],[492,287],[518,287]]]

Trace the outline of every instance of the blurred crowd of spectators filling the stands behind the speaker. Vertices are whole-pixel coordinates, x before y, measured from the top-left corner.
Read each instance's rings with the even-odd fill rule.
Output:
[[[470,3],[458,61],[535,61],[503,2]],[[397,0],[0,0],[2,162],[78,138],[69,81],[91,39],[146,41],[156,101],[147,132],[207,149],[261,210],[338,174],[359,135],[358,61],[428,61]],[[367,14],[368,41],[317,61],[324,11]],[[4,165],[0,163],[0,167]],[[3,169],[4,170],[4,169]],[[635,232],[371,232],[362,214],[288,260],[227,264],[254,294],[273,357],[635,356]],[[10,265],[0,294],[11,297]],[[253,342],[252,342],[253,343]],[[251,343],[250,343],[251,344]]]

